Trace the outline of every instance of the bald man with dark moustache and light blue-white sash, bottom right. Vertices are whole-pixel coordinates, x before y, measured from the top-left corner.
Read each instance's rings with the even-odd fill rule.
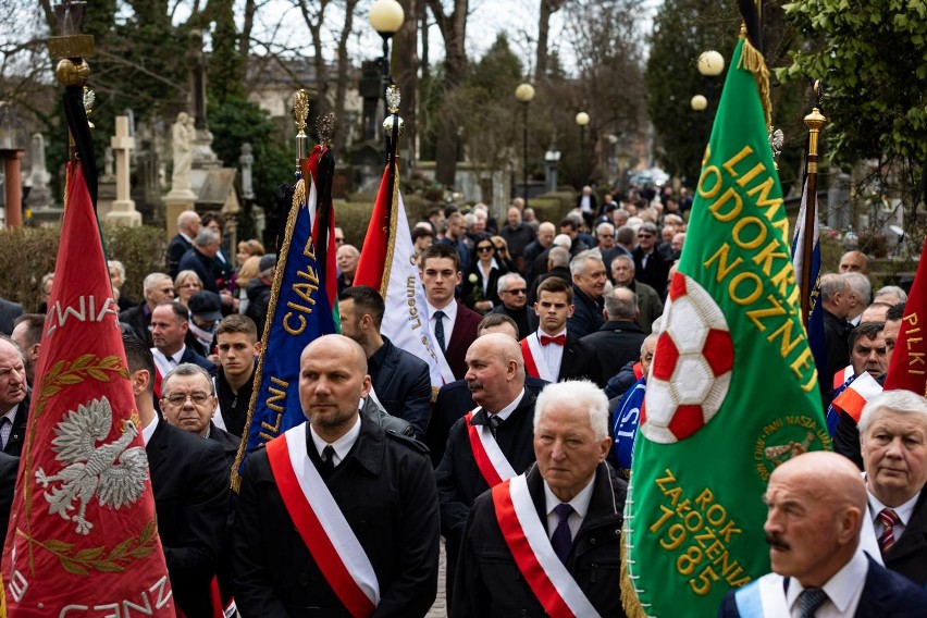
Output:
[[[924,616],[927,591],[861,546],[866,484],[849,459],[799,455],[772,471],[764,500],[772,572],[729,592],[720,617]]]

